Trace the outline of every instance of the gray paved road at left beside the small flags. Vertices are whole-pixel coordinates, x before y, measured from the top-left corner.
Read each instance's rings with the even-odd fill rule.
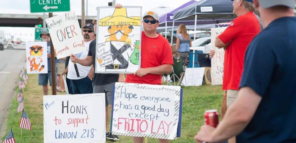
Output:
[[[25,49],[25,45],[18,44],[15,48]],[[0,137],[5,134],[4,121],[15,95],[14,88],[19,82],[19,72],[24,66],[26,66],[25,50],[5,48],[0,51]]]

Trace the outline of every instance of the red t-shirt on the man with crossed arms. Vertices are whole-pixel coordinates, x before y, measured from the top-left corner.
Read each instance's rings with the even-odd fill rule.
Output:
[[[260,33],[260,24],[253,12],[236,17],[218,37],[227,44],[224,55],[223,90],[239,90],[247,47]]]

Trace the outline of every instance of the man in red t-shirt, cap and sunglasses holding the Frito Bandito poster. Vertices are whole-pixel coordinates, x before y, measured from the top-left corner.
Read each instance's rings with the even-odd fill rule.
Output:
[[[143,17],[141,40],[141,68],[134,74],[126,74],[126,83],[146,83],[161,85],[161,75],[171,73],[173,56],[171,46],[166,38],[156,33],[158,14],[146,12]],[[143,143],[143,137],[133,137],[134,143]],[[169,143],[170,140],[159,139],[160,143]]]

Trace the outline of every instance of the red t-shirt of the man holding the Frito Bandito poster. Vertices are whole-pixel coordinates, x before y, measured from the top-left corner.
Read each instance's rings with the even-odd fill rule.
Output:
[[[160,34],[156,38],[149,38],[142,31],[141,68],[157,67],[163,64],[174,64],[169,42]],[[147,74],[142,77],[134,74],[126,74],[125,82],[162,84],[161,75],[154,74]]]

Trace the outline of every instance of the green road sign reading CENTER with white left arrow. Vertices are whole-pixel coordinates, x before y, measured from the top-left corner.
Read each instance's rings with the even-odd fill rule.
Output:
[[[70,11],[70,0],[30,0],[31,13]]]

